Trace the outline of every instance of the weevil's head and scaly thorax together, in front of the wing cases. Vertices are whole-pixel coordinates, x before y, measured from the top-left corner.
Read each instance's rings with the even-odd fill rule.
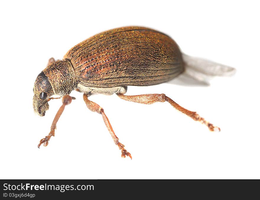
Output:
[[[36,78],[33,86],[33,109],[40,116],[49,109],[48,99],[70,94],[77,86],[74,68],[69,60],[58,60],[48,65]]]

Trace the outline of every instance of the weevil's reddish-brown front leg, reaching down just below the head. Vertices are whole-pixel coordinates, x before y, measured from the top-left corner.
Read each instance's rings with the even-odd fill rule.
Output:
[[[69,96],[68,94],[65,95],[64,97],[62,97],[62,106],[60,107],[60,109],[58,110],[57,114],[55,115],[55,117],[53,119],[53,122],[51,124],[51,131],[50,131],[49,135],[45,136],[45,138],[40,140],[40,143],[38,144],[38,148],[40,148],[41,144],[43,144],[43,146],[46,147],[49,143],[49,140],[51,139],[51,136],[55,136],[56,124],[57,124],[62,112],[64,111],[65,106],[69,105],[71,103],[72,99],[75,99],[75,98]],[[50,98],[50,100],[51,100],[51,98]]]

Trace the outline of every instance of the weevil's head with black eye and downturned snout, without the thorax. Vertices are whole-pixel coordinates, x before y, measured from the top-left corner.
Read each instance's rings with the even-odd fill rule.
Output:
[[[45,111],[49,109],[48,98],[54,94],[48,77],[44,72],[41,72],[34,83],[34,96],[32,99],[32,106],[34,112],[40,116],[45,115]]]

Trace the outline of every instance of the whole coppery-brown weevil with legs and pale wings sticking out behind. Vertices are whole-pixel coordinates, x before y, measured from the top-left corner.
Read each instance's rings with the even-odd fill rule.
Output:
[[[48,101],[57,99],[51,96],[62,97],[62,106],[54,117],[51,131],[40,140],[38,147],[41,144],[47,146],[51,136],[55,135],[59,117],[74,99],[69,96],[73,90],[83,92],[87,107],[102,115],[123,158],[129,156],[132,159],[132,156],[119,142],[104,109],[89,100],[91,94],[115,93],[123,100],[141,104],[167,101],[178,111],[205,124],[210,131],[220,131],[219,127],[183,108],[165,94],[128,96],[125,93],[127,86],[164,83],[184,72],[200,79],[202,74],[222,76],[234,71],[234,68],[183,54],[173,39],[154,29],[122,27],[99,33],[72,47],[63,60],[51,58],[37,76],[33,87],[33,109],[38,115],[44,116],[49,108]]]

